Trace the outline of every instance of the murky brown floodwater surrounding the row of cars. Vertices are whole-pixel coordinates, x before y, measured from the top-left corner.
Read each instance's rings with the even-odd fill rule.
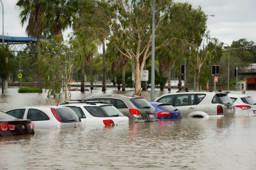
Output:
[[[0,94],[0,110],[58,103],[57,99],[47,99],[45,92],[19,94],[17,90],[8,88]],[[101,93],[72,91],[71,99]],[[122,93],[133,94],[133,91],[106,91],[106,94]],[[165,93],[169,92],[156,90],[155,98]],[[143,91],[142,97],[150,100],[150,94]],[[246,94],[256,96],[256,92],[246,91]],[[61,98],[59,103],[64,100]],[[1,169],[256,169],[256,116],[36,130],[36,135],[0,137]]]

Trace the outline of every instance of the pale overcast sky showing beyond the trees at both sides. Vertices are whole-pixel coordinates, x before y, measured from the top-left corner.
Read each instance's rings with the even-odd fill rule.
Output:
[[[186,2],[186,0],[175,0]],[[4,35],[27,37],[21,27],[20,10],[15,5],[17,0],[2,0],[4,6]],[[207,30],[211,37],[231,45],[233,41],[245,38],[256,42],[256,0],[187,0],[194,8],[202,7],[208,17]],[[1,5],[1,4],[0,4]],[[0,35],[2,35],[2,6],[0,6]],[[68,31],[64,33],[67,36]]]

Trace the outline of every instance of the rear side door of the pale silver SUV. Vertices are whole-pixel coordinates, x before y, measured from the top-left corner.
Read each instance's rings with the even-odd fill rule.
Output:
[[[196,111],[195,94],[177,94],[173,106],[181,112],[182,117],[187,117]]]

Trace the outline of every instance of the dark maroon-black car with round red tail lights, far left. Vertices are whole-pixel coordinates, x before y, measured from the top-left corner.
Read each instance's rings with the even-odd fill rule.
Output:
[[[31,120],[17,119],[0,111],[0,136],[35,134]]]

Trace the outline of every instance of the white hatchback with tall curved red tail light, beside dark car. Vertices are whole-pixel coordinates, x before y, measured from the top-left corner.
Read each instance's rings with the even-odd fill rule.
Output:
[[[81,119],[64,106],[25,106],[7,110],[5,113],[19,119],[28,119],[35,128],[80,128]]]

